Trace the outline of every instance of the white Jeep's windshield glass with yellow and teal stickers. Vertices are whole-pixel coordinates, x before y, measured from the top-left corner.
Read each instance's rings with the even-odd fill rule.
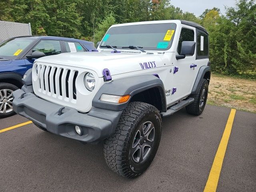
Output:
[[[142,47],[143,50],[168,50],[172,46],[176,24],[140,24],[112,27],[105,34],[100,46]]]

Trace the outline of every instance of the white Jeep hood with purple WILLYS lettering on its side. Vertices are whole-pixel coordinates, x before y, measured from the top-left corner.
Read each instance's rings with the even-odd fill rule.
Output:
[[[138,70],[147,70],[163,66],[163,61],[158,53],[145,54],[142,52],[76,52],[62,53],[46,56],[36,62],[60,64],[94,70],[98,77],[102,77],[104,68],[110,70],[111,75],[122,74]]]

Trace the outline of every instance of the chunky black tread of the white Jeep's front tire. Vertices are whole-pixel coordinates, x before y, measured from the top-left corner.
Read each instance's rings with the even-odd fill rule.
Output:
[[[140,114],[149,111],[156,112],[160,117],[158,109],[150,104],[143,102],[132,102],[128,104],[120,117],[116,131],[104,142],[104,158],[106,164],[108,164],[110,169],[114,172],[126,178],[135,178],[142,174],[134,173],[129,170],[130,167],[124,160],[124,154],[129,146],[128,140],[133,127],[141,119]],[[160,123],[162,124],[162,121]]]

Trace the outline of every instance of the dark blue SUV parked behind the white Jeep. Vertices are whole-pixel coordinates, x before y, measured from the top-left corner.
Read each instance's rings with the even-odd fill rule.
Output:
[[[21,36],[0,44],[0,118],[15,114],[12,92],[21,88],[22,78],[35,59],[95,49],[92,42],[52,36]]]

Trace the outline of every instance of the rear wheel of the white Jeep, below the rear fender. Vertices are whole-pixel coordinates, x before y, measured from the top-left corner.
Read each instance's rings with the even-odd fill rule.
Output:
[[[186,106],[186,111],[192,115],[200,115],[204,111],[204,107],[206,104],[208,96],[208,82],[206,79],[202,79],[200,82],[200,88],[196,92],[196,94],[189,96],[190,98],[194,98],[194,102]]]

